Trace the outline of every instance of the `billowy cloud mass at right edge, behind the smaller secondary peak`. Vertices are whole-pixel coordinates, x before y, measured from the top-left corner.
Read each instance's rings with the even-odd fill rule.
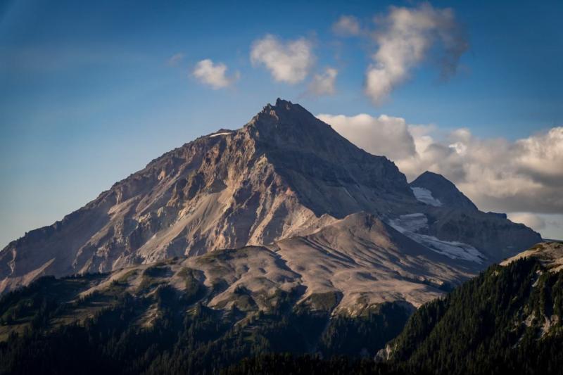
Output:
[[[441,140],[417,134],[415,143],[421,137],[415,156],[396,160],[410,178],[441,173],[487,210],[563,212],[563,127],[517,141],[479,139],[467,129]]]

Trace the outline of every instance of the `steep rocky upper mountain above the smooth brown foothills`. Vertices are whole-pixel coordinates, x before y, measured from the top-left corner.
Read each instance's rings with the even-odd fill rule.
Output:
[[[406,245],[389,259],[402,262],[401,252],[422,249],[436,267],[445,262],[462,277],[540,241],[524,225],[476,210],[436,176],[427,172],[409,185],[387,158],[278,99],[241,129],[220,129],[165,153],[60,222],[11,242],[0,252],[0,292],[43,274],[109,272],[221,248],[272,244],[289,257],[293,245],[325,227],[334,231],[331,225],[357,212],[394,223],[393,240],[379,247]],[[415,195],[417,187],[441,204],[427,191],[424,199],[420,190]],[[424,220],[403,228],[412,214]],[[349,241],[333,250],[355,248]],[[458,267],[467,257],[441,250],[460,243],[460,251],[482,254],[479,266]]]

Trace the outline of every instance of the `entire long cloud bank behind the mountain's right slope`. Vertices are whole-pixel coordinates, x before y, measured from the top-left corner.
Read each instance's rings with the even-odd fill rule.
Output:
[[[317,117],[366,151],[388,156],[410,180],[425,170],[443,174],[483,210],[563,214],[563,127],[509,141],[468,129],[440,135],[434,125],[400,117]]]

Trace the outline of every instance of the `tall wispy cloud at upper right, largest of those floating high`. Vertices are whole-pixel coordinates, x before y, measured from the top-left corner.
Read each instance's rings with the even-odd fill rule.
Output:
[[[392,6],[377,17],[374,40],[378,44],[366,72],[365,93],[379,105],[422,63],[430,51],[438,53],[444,78],[455,73],[460,56],[468,48],[462,28],[450,8],[422,4],[417,8]]]

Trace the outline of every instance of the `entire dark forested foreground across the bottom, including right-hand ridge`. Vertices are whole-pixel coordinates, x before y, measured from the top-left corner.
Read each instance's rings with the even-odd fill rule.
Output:
[[[562,374],[562,254],[538,244],[412,315],[300,289],[212,308],[224,286],[182,269],[175,288],[173,261],[44,277],[0,300],[0,374]]]

